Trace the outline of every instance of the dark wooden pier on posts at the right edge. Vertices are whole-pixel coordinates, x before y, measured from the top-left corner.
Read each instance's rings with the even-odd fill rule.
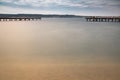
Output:
[[[90,16],[86,17],[87,22],[120,22],[120,17],[100,17],[100,16]]]

